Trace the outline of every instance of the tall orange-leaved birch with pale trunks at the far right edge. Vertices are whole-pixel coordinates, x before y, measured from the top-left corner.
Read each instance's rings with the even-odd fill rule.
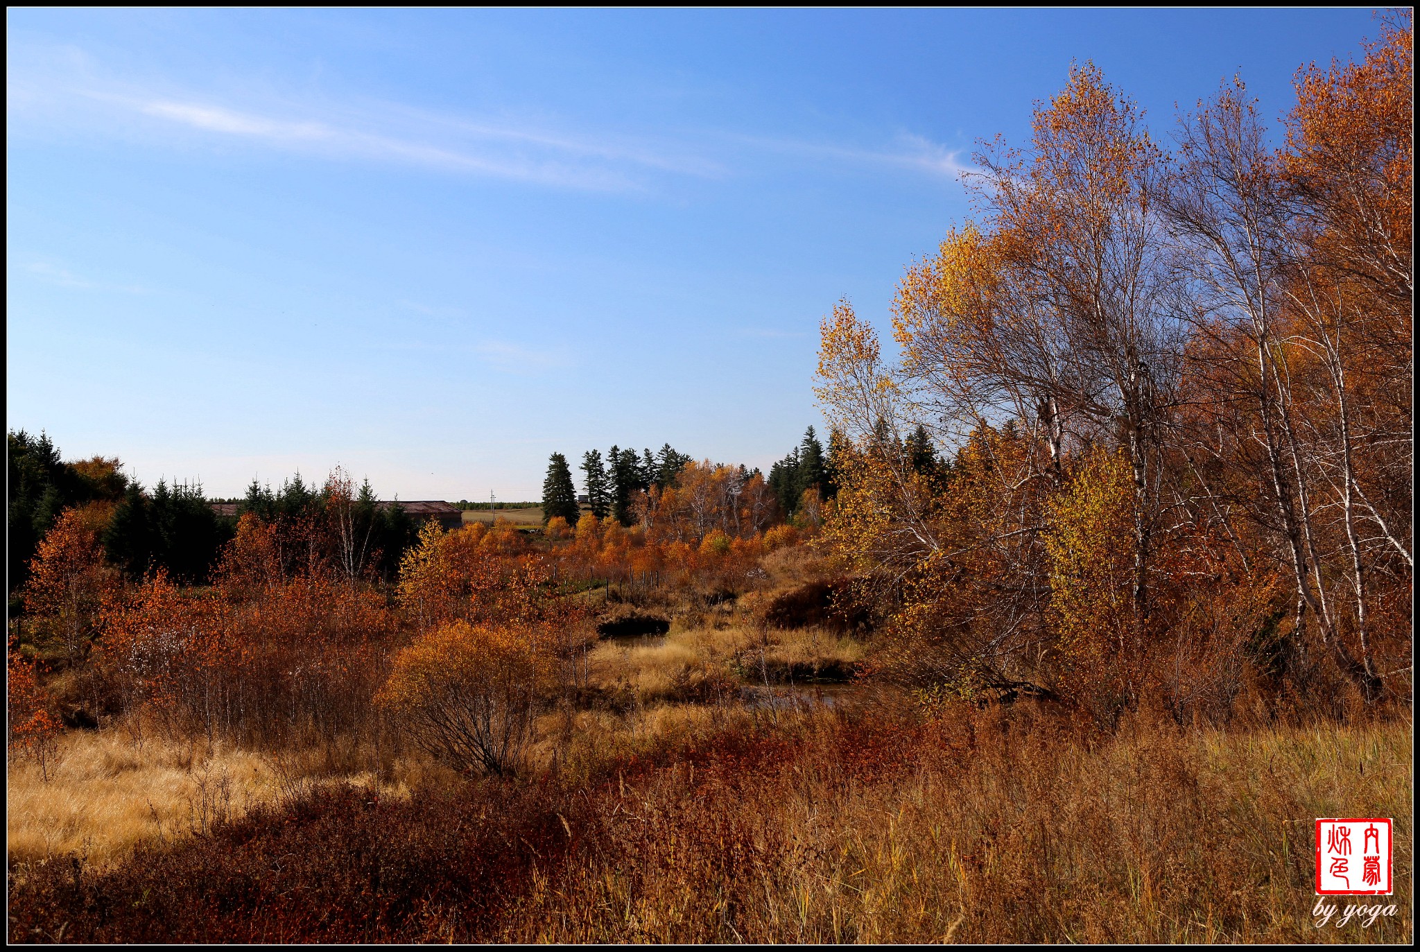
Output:
[[[1410,590],[1414,573],[1413,13],[1387,14],[1380,38],[1363,47],[1360,63],[1299,72],[1279,173],[1296,222],[1289,337],[1298,362],[1315,368],[1296,378],[1302,466],[1315,480],[1315,521],[1335,526],[1318,524],[1306,539],[1312,610],[1342,671],[1376,698],[1375,610],[1392,600],[1373,591],[1372,577]],[[1328,561],[1346,580],[1335,608],[1322,578]],[[1343,627],[1353,628],[1355,651]]]

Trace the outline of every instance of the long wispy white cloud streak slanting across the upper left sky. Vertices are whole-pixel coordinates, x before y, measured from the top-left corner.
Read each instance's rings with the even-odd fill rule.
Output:
[[[545,118],[491,121],[388,101],[293,98],[246,88],[199,94],[160,78],[119,75],[77,47],[7,51],[11,129],[33,124],[87,134],[106,128],[145,141],[240,142],[595,192],[645,192],[665,176],[726,178],[765,152],[946,178],[971,171],[960,149],[914,134],[865,146],[714,129],[574,131]]]

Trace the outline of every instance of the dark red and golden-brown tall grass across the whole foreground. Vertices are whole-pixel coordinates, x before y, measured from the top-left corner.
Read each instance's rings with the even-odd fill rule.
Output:
[[[16,877],[11,938],[1409,942],[1411,723],[1099,735],[1049,709],[578,712],[531,781],[314,787]],[[95,756],[95,762],[101,757]],[[1394,916],[1312,924],[1312,820],[1396,820]]]

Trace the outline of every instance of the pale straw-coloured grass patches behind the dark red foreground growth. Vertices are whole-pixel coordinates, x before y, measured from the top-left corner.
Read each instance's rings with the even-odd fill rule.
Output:
[[[581,727],[616,749],[699,723],[709,708],[734,705],[753,686],[763,655],[768,669],[792,659],[801,666],[851,664],[862,647],[816,631],[755,635],[734,628],[673,631],[667,638],[604,641],[588,659],[588,683],[598,701]],[[733,676],[747,672],[748,683]],[[780,686],[775,682],[775,686]],[[686,703],[692,702],[692,703]],[[542,769],[558,754],[555,716],[542,719],[534,760]],[[202,740],[166,739],[152,725],[128,720],[105,730],[64,735],[57,766],[45,780],[30,762],[10,764],[6,833],[10,862],[80,855],[105,865],[145,843],[202,831],[217,820],[277,803],[283,791],[312,783],[351,783],[385,797],[408,796],[432,776],[444,776],[417,756],[400,756],[379,776],[362,762],[368,752],[308,750],[273,756]]]

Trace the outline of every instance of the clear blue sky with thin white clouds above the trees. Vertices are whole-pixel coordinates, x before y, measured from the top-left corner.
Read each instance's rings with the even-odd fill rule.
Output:
[[[537,497],[612,443],[768,467],[976,141],[1093,60],[1164,136],[1369,10],[7,11],[7,423],[200,479]]]

